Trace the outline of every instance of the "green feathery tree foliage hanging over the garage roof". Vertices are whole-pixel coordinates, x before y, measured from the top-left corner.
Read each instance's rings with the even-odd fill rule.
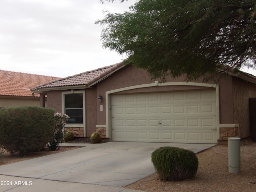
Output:
[[[104,26],[104,48],[126,54],[153,79],[195,80],[254,67],[255,8],[255,0],[139,0],[95,23]]]

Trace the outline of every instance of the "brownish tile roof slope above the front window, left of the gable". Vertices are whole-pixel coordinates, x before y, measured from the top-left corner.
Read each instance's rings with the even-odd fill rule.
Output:
[[[60,80],[55,80],[53,82],[49,82],[46,84],[38,85],[31,90],[38,90],[40,88],[55,88],[55,87],[63,87],[63,86],[90,86],[90,84],[93,84],[97,80],[100,80],[101,78],[111,74],[114,70],[124,66],[123,62],[120,62],[118,64],[114,64],[111,66],[106,66],[102,68],[98,68],[96,70],[87,71],[84,73],[76,74],[74,76],[69,76],[66,78],[62,78]]]

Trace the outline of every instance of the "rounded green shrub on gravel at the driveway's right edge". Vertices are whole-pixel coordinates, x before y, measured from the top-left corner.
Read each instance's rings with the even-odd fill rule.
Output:
[[[160,147],[151,155],[159,178],[179,181],[194,178],[198,169],[198,158],[190,150],[177,147]]]

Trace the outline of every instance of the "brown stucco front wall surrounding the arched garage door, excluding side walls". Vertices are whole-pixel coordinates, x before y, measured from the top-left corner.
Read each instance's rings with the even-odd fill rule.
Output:
[[[118,88],[140,85],[140,84],[149,84],[153,83],[154,80],[148,76],[147,72],[142,69],[137,69],[132,66],[126,66],[104,81],[97,84],[97,94],[104,96],[106,91],[115,90]],[[168,78],[166,82],[184,82],[184,77],[180,78]],[[201,82],[200,80],[194,82]],[[209,84],[219,84],[219,102],[220,102],[220,124],[234,124],[234,114],[233,114],[233,100],[230,99],[233,97],[232,89],[232,76],[224,75],[216,83],[214,80],[210,80],[207,83]],[[141,88],[136,90],[128,90],[120,92],[120,94],[127,93],[139,93],[139,92],[158,92],[158,91],[179,91],[179,90],[199,90],[199,89],[209,89],[200,86],[156,86],[151,88]],[[105,100],[103,100],[103,106],[105,106]],[[99,109],[99,104],[97,106]],[[98,110],[97,110],[98,111]],[[106,124],[106,112],[98,112],[97,124]]]

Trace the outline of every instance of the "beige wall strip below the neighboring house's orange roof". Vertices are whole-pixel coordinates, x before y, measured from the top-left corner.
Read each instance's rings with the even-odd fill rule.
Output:
[[[40,106],[40,98],[3,98],[0,97],[0,108],[2,107],[19,107],[19,106]]]

